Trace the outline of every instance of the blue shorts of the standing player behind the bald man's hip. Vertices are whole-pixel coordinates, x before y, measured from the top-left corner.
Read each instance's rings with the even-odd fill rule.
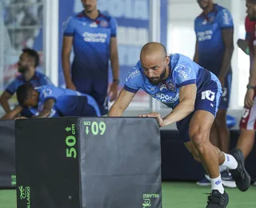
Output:
[[[218,109],[227,109],[230,106],[230,91],[232,83],[232,73],[226,74],[224,87],[222,88],[222,98]]]

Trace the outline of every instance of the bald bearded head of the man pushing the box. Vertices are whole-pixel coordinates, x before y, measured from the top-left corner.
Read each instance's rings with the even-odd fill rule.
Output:
[[[146,43],[142,47],[140,59],[144,74],[151,84],[158,85],[168,77],[170,58],[167,56],[166,47],[161,43]]]

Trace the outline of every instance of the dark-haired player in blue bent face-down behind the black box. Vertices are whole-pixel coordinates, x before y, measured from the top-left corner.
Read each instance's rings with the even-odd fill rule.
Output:
[[[66,116],[101,116],[97,102],[87,94],[55,86],[25,84],[16,91],[19,105],[29,108],[33,118]],[[24,118],[24,117],[23,117]]]

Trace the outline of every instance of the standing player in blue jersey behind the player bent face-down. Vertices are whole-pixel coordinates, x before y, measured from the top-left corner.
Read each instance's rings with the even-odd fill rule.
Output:
[[[96,0],[82,0],[82,5],[85,10],[70,17],[64,28],[62,68],[66,87],[93,96],[104,115],[108,112],[108,96],[112,102],[118,94],[117,23],[97,10]],[[74,61],[70,67],[72,46]],[[109,60],[113,83],[107,94]]]

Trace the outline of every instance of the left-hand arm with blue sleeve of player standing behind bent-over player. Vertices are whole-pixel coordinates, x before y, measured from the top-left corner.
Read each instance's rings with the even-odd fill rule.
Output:
[[[66,82],[66,88],[71,90],[76,90],[74,83],[71,78],[70,74],[70,54],[73,46],[73,35],[74,35],[74,28],[72,23],[72,18],[69,18],[66,22],[66,26],[64,28],[63,33],[63,41],[62,41],[62,69],[63,74]]]

